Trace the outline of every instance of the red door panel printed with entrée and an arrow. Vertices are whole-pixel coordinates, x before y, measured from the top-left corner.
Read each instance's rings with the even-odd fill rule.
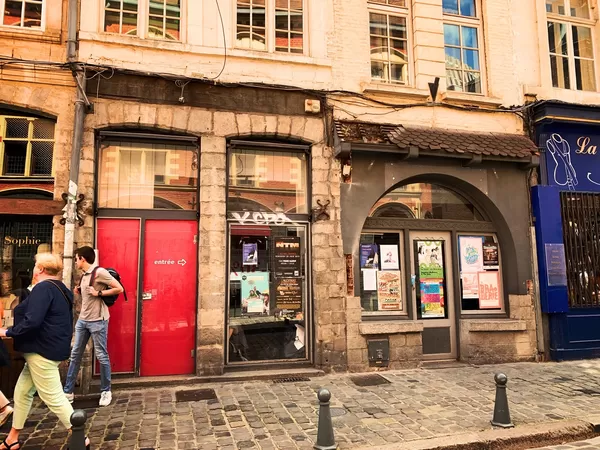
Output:
[[[147,220],[140,375],[194,372],[198,224]]]

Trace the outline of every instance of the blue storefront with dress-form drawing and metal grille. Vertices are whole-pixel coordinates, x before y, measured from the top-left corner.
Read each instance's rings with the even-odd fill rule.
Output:
[[[540,300],[553,360],[600,357],[600,107],[533,108]]]

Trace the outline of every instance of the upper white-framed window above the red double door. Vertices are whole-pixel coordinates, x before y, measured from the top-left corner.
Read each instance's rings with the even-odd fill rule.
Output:
[[[108,0],[104,3],[107,33],[141,38],[181,40],[181,0]]]

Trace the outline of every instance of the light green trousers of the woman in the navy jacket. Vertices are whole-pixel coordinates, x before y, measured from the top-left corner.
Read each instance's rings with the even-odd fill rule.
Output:
[[[58,361],[51,361],[37,353],[25,353],[25,367],[15,386],[13,428],[22,430],[37,391],[48,409],[58,416],[65,428],[71,428],[73,407],[65,397],[60,383]]]

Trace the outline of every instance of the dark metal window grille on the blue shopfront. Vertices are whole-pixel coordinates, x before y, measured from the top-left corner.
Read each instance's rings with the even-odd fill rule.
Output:
[[[569,306],[600,306],[600,194],[560,194]]]

